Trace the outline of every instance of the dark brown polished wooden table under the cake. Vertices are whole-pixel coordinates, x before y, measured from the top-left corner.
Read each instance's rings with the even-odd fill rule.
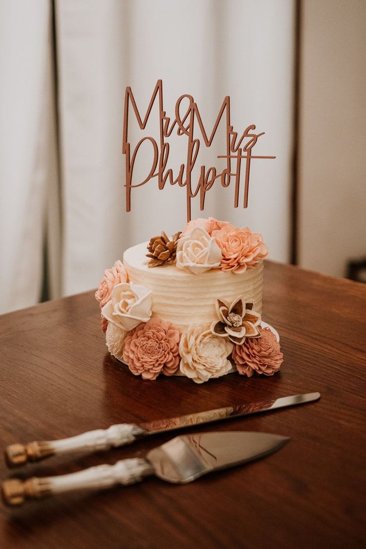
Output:
[[[281,336],[274,377],[144,382],[111,358],[91,292],[0,317],[0,441],[64,438],[112,423],[320,391],[320,401],[207,426],[289,435],[264,460],[177,486],[150,478],[21,508],[0,506],[2,549],[293,549],[365,543],[366,285],[268,262],[264,320]],[[196,428],[196,431],[202,430]],[[16,476],[144,456],[172,434]],[[9,472],[1,463],[2,480]]]

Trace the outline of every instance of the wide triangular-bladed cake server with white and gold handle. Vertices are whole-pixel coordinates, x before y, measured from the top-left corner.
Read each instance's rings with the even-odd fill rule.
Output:
[[[258,460],[289,440],[287,436],[243,431],[177,436],[150,450],[145,459],[121,460],[58,477],[8,479],[2,494],[8,505],[20,505],[26,499],[63,492],[134,484],[154,474],[167,482],[185,484],[211,471]]]

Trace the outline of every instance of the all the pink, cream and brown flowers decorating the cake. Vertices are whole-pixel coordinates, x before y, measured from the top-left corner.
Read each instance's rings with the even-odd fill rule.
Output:
[[[172,237],[162,232],[151,238],[147,252],[149,267],[174,264],[192,275],[211,269],[239,274],[258,266],[268,248],[261,234],[209,217],[190,221]],[[232,303],[217,296],[216,318],[209,324],[193,322],[181,333],[164,318],[151,317],[151,290],[129,281],[125,266],[116,261],[104,271],[95,298],[108,350],[143,379],[179,371],[204,383],[233,368],[247,377],[273,376],[283,362],[277,336],[261,327],[254,304],[241,296]]]

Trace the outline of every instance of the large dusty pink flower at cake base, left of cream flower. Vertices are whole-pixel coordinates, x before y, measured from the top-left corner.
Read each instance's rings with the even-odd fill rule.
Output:
[[[123,360],[135,376],[172,376],[179,366],[179,330],[161,318],[139,324],[127,335]]]

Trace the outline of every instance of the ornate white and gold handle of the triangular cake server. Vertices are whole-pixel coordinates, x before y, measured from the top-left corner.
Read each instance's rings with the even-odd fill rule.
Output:
[[[98,465],[58,477],[9,479],[2,485],[4,502],[21,505],[26,499],[62,494],[75,490],[97,490],[117,484],[134,484],[154,474],[150,463],[142,458],[117,461],[114,465]]]

